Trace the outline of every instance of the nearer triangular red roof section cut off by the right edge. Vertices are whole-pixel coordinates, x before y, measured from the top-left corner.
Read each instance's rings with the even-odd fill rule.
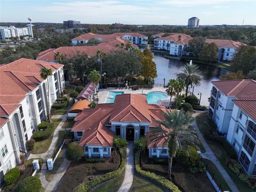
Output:
[[[256,99],[232,101],[256,122]]]

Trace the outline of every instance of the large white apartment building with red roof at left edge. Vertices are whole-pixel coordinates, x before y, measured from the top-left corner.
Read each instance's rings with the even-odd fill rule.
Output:
[[[47,81],[41,68],[52,69]],[[47,83],[49,82],[49,83]],[[0,66],[0,182],[4,174],[27,153],[26,141],[65,89],[63,65],[19,59]],[[47,92],[50,92],[48,98]],[[49,101],[49,102],[48,102]]]

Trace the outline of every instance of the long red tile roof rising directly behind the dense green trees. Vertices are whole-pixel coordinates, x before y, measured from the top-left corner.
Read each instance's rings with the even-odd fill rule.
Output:
[[[36,60],[54,61],[54,56],[57,52],[64,55],[66,58],[71,58],[77,53],[85,53],[88,56],[95,56],[97,51],[103,51],[109,53],[114,50],[123,50],[119,47],[115,47],[110,44],[105,45],[95,45],[95,46],[63,46],[57,49],[49,49],[42,51],[38,54]]]

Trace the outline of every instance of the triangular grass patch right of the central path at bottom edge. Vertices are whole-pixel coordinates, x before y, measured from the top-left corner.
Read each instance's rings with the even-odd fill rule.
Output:
[[[162,187],[155,183],[142,179],[137,173],[134,173],[132,187],[130,192],[162,192],[165,191]]]

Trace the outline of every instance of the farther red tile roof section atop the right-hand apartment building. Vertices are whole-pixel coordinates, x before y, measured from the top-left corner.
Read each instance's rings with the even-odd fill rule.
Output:
[[[235,96],[236,99],[256,99],[256,81],[251,79],[213,81],[222,93]]]

